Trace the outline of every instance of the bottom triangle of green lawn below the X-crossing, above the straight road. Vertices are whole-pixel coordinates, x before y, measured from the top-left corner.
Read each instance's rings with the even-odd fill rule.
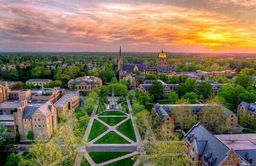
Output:
[[[94,144],[110,144],[110,143],[117,143],[117,144],[129,144],[130,142],[125,140],[122,136],[118,135],[117,133],[111,131],[97,140]]]

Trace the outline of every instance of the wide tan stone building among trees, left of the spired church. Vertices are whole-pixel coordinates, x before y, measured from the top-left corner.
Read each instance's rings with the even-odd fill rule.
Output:
[[[102,86],[102,79],[93,76],[85,76],[79,77],[69,80],[68,82],[69,88],[77,88],[80,94],[87,94],[92,91],[92,89],[96,87]]]

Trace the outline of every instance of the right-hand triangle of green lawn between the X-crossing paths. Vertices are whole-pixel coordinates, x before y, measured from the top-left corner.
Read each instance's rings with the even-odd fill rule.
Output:
[[[129,137],[132,141],[136,142],[136,136],[133,130],[132,121],[131,119],[125,121],[121,125],[117,127],[117,130],[124,134],[125,136]]]

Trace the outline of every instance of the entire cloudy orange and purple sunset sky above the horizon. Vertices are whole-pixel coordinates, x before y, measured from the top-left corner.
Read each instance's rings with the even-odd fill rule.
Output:
[[[256,0],[0,0],[0,51],[256,53]]]

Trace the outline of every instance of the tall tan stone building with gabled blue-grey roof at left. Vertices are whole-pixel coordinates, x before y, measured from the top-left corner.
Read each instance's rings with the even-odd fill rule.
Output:
[[[17,126],[21,140],[27,141],[31,130],[35,140],[48,141],[57,128],[57,110],[52,102],[30,102],[17,109]]]

